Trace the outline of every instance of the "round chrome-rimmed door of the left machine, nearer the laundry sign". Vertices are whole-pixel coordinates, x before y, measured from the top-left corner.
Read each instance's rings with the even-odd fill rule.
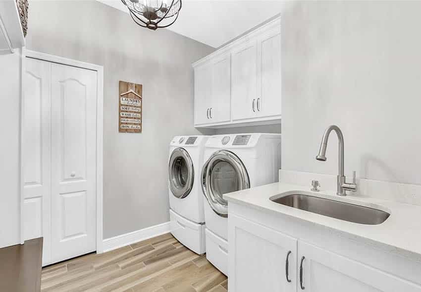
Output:
[[[185,198],[190,194],[194,181],[193,162],[189,153],[183,148],[176,148],[171,153],[168,165],[169,188],[172,194]]]

